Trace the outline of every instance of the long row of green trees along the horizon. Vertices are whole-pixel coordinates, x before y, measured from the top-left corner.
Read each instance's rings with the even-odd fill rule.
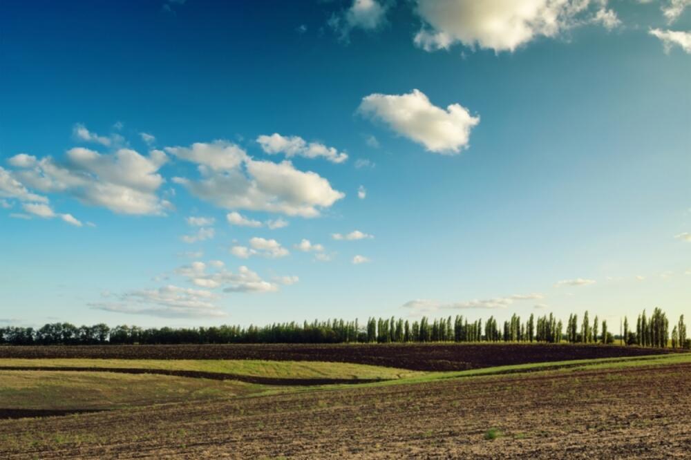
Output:
[[[506,342],[506,343],[615,343],[643,347],[691,349],[684,316],[672,325],[661,309],[650,316],[645,310],[638,315],[636,329],[623,319],[623,332],[614,336],[607,321],[591,321],[588,312],[583,319],[569,315],[566,325],[553,314],[534,316],[524,322],[513,314],[502,325],[490,316],[468,322],[462,315],[430,320],[410,321],[403,318],[368,318],[365,325],[356,319],[314,320],[312,323],[274,323],[249,327],[221,325],[193,328],[148,328],[118,325],[112,329],[103,323],[77,327],[70,323],[50,323],[32,327],[0,328],[0,345],[168,345],[181,343],[420,343],[420,342]]]

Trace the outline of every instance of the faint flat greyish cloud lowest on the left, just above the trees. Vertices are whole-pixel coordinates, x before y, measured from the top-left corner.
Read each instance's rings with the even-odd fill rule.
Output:
[[[110,296],[107,296],[110,297]],[[167,285],[117,296],[117,302],[91,303],[93,309],[160,318],[202,318],[227,316],[218,305],[218,296],[205,289]]]

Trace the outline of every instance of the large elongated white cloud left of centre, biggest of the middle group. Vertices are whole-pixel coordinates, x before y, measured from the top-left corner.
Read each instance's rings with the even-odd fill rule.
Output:
[[[200,180],[174,178],[193,195],[225,209],[269,211],[316,217],[345,194],[311,171],[295,169],[290,161],[255,161],[236,146],[217,141],[174,147],[166,151],[200,164]]]

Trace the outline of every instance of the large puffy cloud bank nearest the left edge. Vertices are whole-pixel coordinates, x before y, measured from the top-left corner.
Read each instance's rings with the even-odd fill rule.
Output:
[[[66,193],[85,204],[124,214],[163,214],[171,208],[170,202],[156,195],[164,182],[158,169],[166,161],[167,156],[161,151],[144,156],[120,148],[115,153],[101,154],[82,147],[67,151],[62,163],[52,157],[38,160],[26,154],[10,158],[10,164],[19,168],[12,171],[12,178],[22,187],[43,193]],[[0,191],[2,182],[0,171]]]

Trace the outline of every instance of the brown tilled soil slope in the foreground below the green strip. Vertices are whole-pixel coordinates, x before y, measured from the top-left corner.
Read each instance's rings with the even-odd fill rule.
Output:
[[[6,420],[0,458],[682,459],[690,375],[511,374]]]

